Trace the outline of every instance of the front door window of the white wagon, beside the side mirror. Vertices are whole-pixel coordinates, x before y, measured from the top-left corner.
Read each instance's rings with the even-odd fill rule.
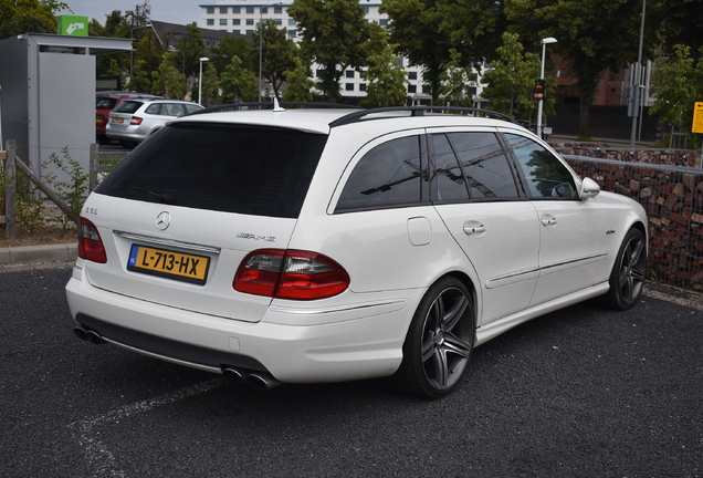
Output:
[[[517,157],[533,197],[578,197],[574,177],[552,153],[524,136],[506,134],[505,138]]]

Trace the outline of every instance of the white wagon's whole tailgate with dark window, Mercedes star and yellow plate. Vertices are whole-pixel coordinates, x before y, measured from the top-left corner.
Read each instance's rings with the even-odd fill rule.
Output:
[[[135,149],[86,201],[104,264],[87,280],[123,295],[255,322],[271,299],[238,292],[242,259],[285,249],[327,136],[178,123]]]

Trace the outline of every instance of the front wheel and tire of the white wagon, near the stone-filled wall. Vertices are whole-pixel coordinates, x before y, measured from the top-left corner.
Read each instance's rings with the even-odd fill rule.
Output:
[[[647,241],[639,229],[630,229],[622,240],[610,272],[610,290],[604,295],[606,305],[616,310],[634,306],[647,278]]]

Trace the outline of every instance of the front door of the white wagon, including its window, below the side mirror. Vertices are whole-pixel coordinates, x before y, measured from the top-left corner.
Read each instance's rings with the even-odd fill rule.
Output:
[[[505,138],[539,218],[539,280],[533,305],[594,285],[606,259],[602,209],[578,197],[575,175],[547,148],[518,134]]]

